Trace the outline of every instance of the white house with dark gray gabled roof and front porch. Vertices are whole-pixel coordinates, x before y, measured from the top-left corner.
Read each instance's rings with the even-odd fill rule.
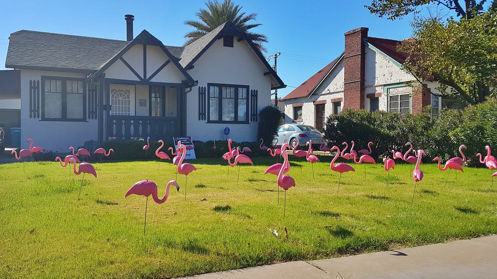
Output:
[[[186,47],[143,30],[127,41],[20,30],[6,68],[20,69],[21,138],[67,151],[85,141],[256,140],[258,111],[286,85],[226,22]]]

